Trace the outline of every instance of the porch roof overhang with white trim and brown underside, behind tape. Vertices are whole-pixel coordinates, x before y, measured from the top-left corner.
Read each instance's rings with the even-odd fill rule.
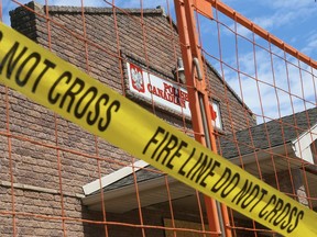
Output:
[[[317,124],[310,129],[298,134],[294,140],[285,142],[272,148],[254,150],[240,157],[233,157],[230,161],[240,167],[243,163],[243,168],[255,177],[260,177],[259,170],[261,170],[261,176],[263,176],[303,168],[303,165],[309,167],[309,163],[314,163],[310,145],[315,139],[317,139]],[[101,200],[103,199],[105,203],[107,203],[106,210],[108,212],[124,213],[138,207],[164,203],[172,199],[173,202],[177,202],[184,208],[188,208],[188,206],[192,210],[195,208],[193,202],[194,199],[197,199],[195,198],[196,191],[167,176],[160,174],[142,182],[138,181],[138,187],[134,182],[130,182],[130,184],[107,190],[108,187],[123,178],[131,177],[132,179],[133,172],[147,166],[149,163],[145,161],[139,160],[102,177],[100,180],[98,179],[84,185],[86,198],[83,199],[83,204],[90,210],[100,211],[102,208]],[[273,166],[274,169],[272,168]],[[316,173],[311,172],[310,176],[314,176],[314,179],[311,178],[310,180],[313,184],[316,184]],[[166,183],[168,183],[168,190]],[[103,190],[103,192],[101,193],[100,190]]]

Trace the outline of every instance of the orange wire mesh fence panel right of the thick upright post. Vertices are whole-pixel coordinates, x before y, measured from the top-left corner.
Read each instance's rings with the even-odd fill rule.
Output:
[[[197,22],[204,57],[223,80],[222,90],[209,84],[211,97],[223,100],[223,123],[230,124],[218,133],[220,154],[314,208],[316,61],[221,2],[210,2],[214,18],[197,15]],[[242,110],[228,97],[231,89]],[[245,116],[249,109],[258,125]],[[239,122],[237,110],[245,114]],[[233,212],[231,219],[234,235],[273,235]]]

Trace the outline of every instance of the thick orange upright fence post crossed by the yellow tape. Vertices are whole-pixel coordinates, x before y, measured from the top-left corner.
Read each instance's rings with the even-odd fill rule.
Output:
[[[192,112],[193,129],[195,139],[217,153],[211,114],[209,110],[209,98],[206,90],[206,81],[203,66],[203,58],[198,45],[198,36],[194,18],[194,7],[200,7],[190,1],[175,0],[177,26],[183,55],[186,86],[188,90],[189,106]],[[205,3],[206,7],[206,3]],[[205,13],[208,12],[204,11]],[[210,5],[211,16],[211,5]],[[227,207],[217,203],[209,196],[205,196],[209,228],[218,234],[211,236],[231,236],[228,228],[229,217]],[[225,212],[223,212],[225,211]]]

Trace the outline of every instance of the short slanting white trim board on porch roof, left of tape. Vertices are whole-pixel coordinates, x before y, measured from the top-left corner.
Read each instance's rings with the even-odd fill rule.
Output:
[[[107,185],[110,185],[111,183],[117,182],[118,180],[130,176],[133,171],[138,171],[141,168],[146,167],[149,163],[143,161],[143,160],[139,160],[134,163],[131,163],[131,166],[127,166],[122,169],[119,169],[112,173],[109,173],[105,177],[101,178],[101,189],[103,189]],[[87,183],[83,187],[84,193],[85,195],[90,195],[91,193],[100,190],[100,180],[97,179],[90,183]]]

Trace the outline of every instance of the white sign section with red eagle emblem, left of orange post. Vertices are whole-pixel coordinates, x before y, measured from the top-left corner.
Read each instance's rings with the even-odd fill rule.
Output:
[[[131,92],[149,99],[173,111],[190,116],[187,90],[176,83],[158,78],[142,68],[127,63],[129,89]]]

